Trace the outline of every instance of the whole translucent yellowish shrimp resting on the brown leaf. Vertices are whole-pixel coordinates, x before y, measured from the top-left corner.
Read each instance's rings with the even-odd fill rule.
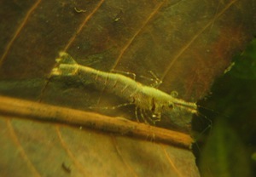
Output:
[[[105,88],[107,92],[134,104],[136,110],[149,112],[150,117],[155,119],[155,121],[151,119],[153,123],[160,121],[161,116],[166,113],[171,115],[181,115],[183,111],[197,113],[197,106],[193,102],[177,99],[160,89],[143,85],[119,73],[81,66],[65,52],[60,52],[60,57],[56,59],[56,62],[57,66],[51,71],[51,76],[77,76],[82,82],[90,80],[96,88]]]

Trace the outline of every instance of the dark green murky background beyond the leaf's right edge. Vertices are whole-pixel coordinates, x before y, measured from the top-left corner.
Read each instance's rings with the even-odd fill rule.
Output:
[[[205,121],[194,119],[194,128],[199,131],[194,149],[202,176],[255,176],[255,91],[254,39],[245,51],[236,54],[229,71],[216,79],[212,94],[198,103],[207,117]]]

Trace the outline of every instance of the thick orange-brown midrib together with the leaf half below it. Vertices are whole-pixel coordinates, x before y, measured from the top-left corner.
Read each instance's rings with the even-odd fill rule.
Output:
[[[169,142],[174,141],[172,146],[168,146],[156,141],[169,134],[166,131],[166,134],[160,136],[163,131],[160,128],[139,126],[140,123],[118,117],[100,117],[95,113],[8,97],[1,97],[0,102],[0,111],[4,114],[1,116],[3,127],[1,143],[4,145],[0,151],[3,157],[0,161],[2,175],[199,175],[195,166],[195,157],[188,148],[192,141],[189,134],[173,132],[169,136]],[[34,121],[25,121],[24,118]],[[92,119],[95,121],[90,121]],[[36,122],[36,120],[54,121],[55,126],[52,123]],[[77,126],[71,128],[57,124],[56,121]],[[109,129],[114,123],[123,125],[119,124]],[[127,127],[129,124],[133,126]],[[145,128],[142,128],[143,126]],[[119,134],[104,134],[87,129],[88,127],[112,130]],[[143,139],[138,140],[137,135],[142,135],[143,132],[147,134],[143,135]],[[133,138],[123,136],[131,133]],[[9,156],[8,154],[14,149],[17,153]],[[16,166],[16,163],[11,161],[25,163],[26,167],[20,167],[19,163]]]

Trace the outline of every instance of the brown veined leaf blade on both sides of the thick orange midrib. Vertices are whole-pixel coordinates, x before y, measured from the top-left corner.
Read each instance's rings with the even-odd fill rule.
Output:
[[[148,71],[153,71],[163,81],[161,90],[176,90],[180,98],[196,101],[207,94],[214,77],[229,66],[230,56],[244,47],[255,30],[253,0],[3,0],[0,4],[4,7],[0,10],[1,94],[34,101],[40,98],[44,103],[79,110],[113,106],[119,100],[68,80],[46,84],[61,50],[98,70],[136,73],[143,83],[147,81],[139,76],[151,77]],[[131,117],[129,111],[114,111],[113,115]],[[129,176],[148,176],[148,169],[159,176],[198,175],[192,170],[195,163],[190,151],[173,152],[171,146],[62,124],[6,116],[0,120],[3,173],[96,175],[99,167],[107,165],[101,172],[109,176],[121,168]],[[91,139],[88,134],[93,134]],[[170,161],[158,158],[166,154]],[[109,159],[117,160],[108,163]]]

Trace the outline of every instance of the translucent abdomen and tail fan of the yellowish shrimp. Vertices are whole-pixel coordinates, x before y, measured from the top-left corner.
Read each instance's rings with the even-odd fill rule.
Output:
[[[134,100],[132,95],[140,89],[138,87],[142,87],[141,83],[137,83],[130,77],[81,66],[73,60],[72,56],[64,52],[60,53],[56,61],[57,66],[51,71],[52,76],[78,76],[83,83],[93,83],[96,88],[104,89],[130,102]]]

